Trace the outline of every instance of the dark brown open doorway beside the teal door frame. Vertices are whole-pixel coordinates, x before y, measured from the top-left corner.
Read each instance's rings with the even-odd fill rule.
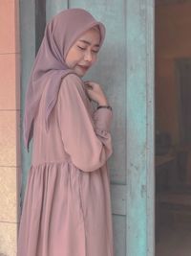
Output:
[[[156,256],[191,251],[191,1],[156,3]]]

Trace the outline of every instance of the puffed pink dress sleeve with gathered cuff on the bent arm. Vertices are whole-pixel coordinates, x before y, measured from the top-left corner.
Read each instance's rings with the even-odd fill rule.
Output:
[[[110,133],[113,113],[110,109],[98,108],[91,114],[88,101],[83,81],[75,74],[67,75],[57,98],[63,145],[78,169],[93,172],[103,166],[113,152]]]

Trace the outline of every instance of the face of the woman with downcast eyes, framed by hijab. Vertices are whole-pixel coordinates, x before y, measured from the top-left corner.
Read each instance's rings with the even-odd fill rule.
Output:
[[[83,77],[96,62],[99,42],[100,33],[94,27],[81,35],[70,48],[65,62],[79,77]]]

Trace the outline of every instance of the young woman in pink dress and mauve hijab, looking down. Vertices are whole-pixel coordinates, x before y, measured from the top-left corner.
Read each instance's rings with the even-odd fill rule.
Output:
[[[82,80],[104,37],[104,25],[83,9],[59,12],[46,26],[26,94],[32,165],[17,256],[114,256],[113,110],[101,85]]]

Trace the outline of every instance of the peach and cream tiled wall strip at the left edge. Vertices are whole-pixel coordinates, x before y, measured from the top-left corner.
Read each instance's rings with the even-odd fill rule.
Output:
[[[19,2],[0,1],[0,255],[16,255],[20,188]]]

